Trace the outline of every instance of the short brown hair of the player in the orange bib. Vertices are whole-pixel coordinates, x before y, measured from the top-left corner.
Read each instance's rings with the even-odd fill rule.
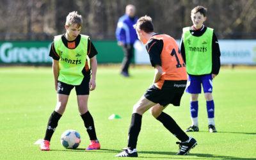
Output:
[[[154,32],[154,25],[152,23],[152,19],[147,15],[145,15],[144,17],[140,17],[140,19],[138,19],[136,24],[133,25],[133,28],[141,29],[145,31],[145,33]]]

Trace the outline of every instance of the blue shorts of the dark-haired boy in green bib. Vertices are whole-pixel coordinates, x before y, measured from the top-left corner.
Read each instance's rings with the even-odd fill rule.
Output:
[[[204,93],[212,93],[212,75],[204,76],[188,76],[188,83],[186,87],[187,93],[198,94],[201,93],[201,84],[204,88]]]

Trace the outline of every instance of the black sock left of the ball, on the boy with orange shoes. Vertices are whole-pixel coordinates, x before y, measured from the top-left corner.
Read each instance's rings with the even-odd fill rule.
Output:
[[[44,140],[51,141],[52,134],[55,131],[61,116],[62,115],[60,115],[56,111],[52,112],[47,124]]]

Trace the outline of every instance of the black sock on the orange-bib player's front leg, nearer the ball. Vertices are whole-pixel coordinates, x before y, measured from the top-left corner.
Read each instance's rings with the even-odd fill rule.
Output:
[[[129,134],[128,134],[128,148],[130,150],[133,150],[134,148],[136,148],[138,136],[141,129],[141,119],[142,119],[142,116],[139,115],[138,113],[132,114],[132,120],[131,120],[131,125],[129,128]]]

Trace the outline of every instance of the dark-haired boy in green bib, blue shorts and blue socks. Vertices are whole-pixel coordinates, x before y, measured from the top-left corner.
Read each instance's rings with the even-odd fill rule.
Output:
[[[186,63],[188,84],[186,92],[191,93],[191,126],[186,132],[198,132],[198,94],[201,84],[204,88],[208,113],[209,132],[217,132],[214,123],[214,101],[212,99],[212,79],[220,70],[220,47],[212,28],[204,26],[207,8],[196,6],[191,11],[193,26],[183,28],[180,52]]]

